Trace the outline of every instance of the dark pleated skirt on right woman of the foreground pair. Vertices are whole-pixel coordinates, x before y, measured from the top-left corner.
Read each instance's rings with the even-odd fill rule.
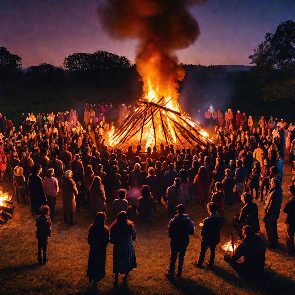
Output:
[[[127,274],[137,267],[133,245],[127,249],[115,248],[113,250],[113,273]]]

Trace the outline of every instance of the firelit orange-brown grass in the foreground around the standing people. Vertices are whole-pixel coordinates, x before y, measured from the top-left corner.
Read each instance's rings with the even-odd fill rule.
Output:
[[[283,203],[289,199],[287,187],[290,183],[290,166],[284,165]],[[1,184],[13,195],[11,183]],[[258,203],[260,217],[262,204]],[[108,204],[110,207],[110,204]],[[169,264],[170,239],[167,235],[168,218],[164,204],[157,205],[157,212],[151,222],[143,222],[133,217],[137,230],[134,243],[138,268],[130,273],[128,284],[113,284],[112,249],[107,246],[106,277],[97,288],[88,285],[86,277],[89,245],[88,226],[93,216],[86,208],[75,217],[72,227],[63,223],[61,193],[58,196],[56,221],[52,226],[52,237],[48,244],[47,266],[37,265],[37,239],[35,238],[35,219],[30,215],[29,206],[18,205],[14,216],[0,226],[0,294],[294,294],[294,258],[289,258],[285,243],[285,214],[281,213],[278,222],[280,247],[266,250],[266,266],[262,277],[247,282],[240,279],[223,260],[221,245],[229,240],[229,235],[237,239],[230,225],[242,203],[225,206],[224,225],[221,242],[217,246],[215,266],[196,269],[192,262],[199,257],[199,222],[207,217],[201,207],[191,206],[187,212],[196,225],[195,235],[191,237],[183,266],[182,278],[168,280],[164,274]],[[109,209],[107,224],[114,219]],[[260,221],[261,234],[266,237],[264,223]],[[209,250],[208,250],[209,251]],[[255,249],[253,249],[255,251]],[[207,252],[205,260],[209,258]]]

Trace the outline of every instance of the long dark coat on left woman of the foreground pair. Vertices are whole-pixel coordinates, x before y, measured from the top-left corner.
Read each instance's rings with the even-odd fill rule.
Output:
[[[87,242],[90,245],[87,276],[94,281],[100,281],[106,276],[106,246],[109,243],[109,230],[89,230]]]

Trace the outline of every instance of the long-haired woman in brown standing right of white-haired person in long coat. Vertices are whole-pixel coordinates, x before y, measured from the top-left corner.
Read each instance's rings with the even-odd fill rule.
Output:
[[[94,213],[106,211],[106,194],[104,186],[101,184],[101,178],[95,176],[89,188],[90,208]]]

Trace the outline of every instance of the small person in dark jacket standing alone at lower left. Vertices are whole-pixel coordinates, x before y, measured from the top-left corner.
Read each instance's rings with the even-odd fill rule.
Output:
[[[38,239],[38,262],[39,264],[47,264],[47,245],[49,237],[51,237],[51,220],[49,216],[49,207],[41,206],[39,215],[36,215],[36,238]],[[42,254],[43,251],[43,261]]]

